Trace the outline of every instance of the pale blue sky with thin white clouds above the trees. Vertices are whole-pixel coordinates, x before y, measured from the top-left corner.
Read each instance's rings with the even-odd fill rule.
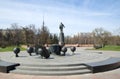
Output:
[[[104,28],[115,32],[120,27],[120,0],[0,0],[0,29],[17,23],[26,27],[42,22],[51,33],[73,35]]]

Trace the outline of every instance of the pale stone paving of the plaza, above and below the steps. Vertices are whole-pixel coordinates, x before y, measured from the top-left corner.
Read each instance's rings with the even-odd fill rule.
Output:
[[[66,56],[51,55],[49,59],[41,59],[40,56],[29,56],[26,51],[22,51],[18,58],[15,57],[13,52],[0,53],[1,60],[16,62],[22,64],[70,64],[70,63],[89,63],[99,62],[106,60],[110,57],[120,57],[120,52],[116,51],[96,51],[85,50],[87,47],[79,47],[72,55],[72,52],[68,49]],[[32,62],[31,62],[32,61]],[[13,73],[0,73],[0,79],[119,79],[120,68],[95,73],[95,74],[83,74],[83,75],[69,75],[69,76],[35,76],[35,75],[21,75]]]

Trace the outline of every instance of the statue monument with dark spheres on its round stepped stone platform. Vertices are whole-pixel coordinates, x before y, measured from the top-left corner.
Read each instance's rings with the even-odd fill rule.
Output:
[[[48,75],[48,76],[60,76],[60,75],[79,75],[87,73],[97,73],[112,70],[120,67],[120,57],[116,54],[116,57],[107,56],[105,52],[89,52],[85,49],[78,48],[76,54],[76,48],[73,46],[65,46],[63,27],[60,23],[60,35],[59,44],[53,44],[47,49],[42,45],[28,46],[26,54],[21,51],[20,48],[16,47],[14,53],[16,57],[13,57],[11,53],[0,53],[0,72],[5,73],[16,73],[16,74],[26,74],[26,75]],[[70,48],[70,50],[67,49]],[[31,53],[36,52],[36,55]],[[58,57],[50,54],[54,53]],[[73,55],[71,55],[73,53]],[[119,53],[119,52],[118,52]],[[41,58],[49,59],[41,60]],[[109,54],[109,53],[108,53]],[[113,52],[113,54],[115,54]],[[115,56],[115,55],[114,55]],[[19,67],[16,67],[19,66]]]

